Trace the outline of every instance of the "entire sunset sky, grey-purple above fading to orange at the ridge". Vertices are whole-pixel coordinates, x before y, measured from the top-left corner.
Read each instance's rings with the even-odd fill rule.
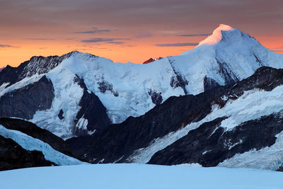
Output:
[[[282,0],[0,0],[0,67],[73,50],[142,63],[180,55],[220,24],[283,53]]]

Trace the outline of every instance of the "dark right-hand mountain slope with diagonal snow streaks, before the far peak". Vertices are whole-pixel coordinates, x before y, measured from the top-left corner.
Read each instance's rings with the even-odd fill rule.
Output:
[[[76,156],[91,163],[243,167],[229,159],[258,151],[253,153],[261,153],[258,164],[246,166],[277,170],[283,164],[282,84],[283,69],[262,67],[236,84],[171,97],[145,115],[110,125],[97,137],[67,142]],[[267,158],[265,152],[274,155]],[[248,162],[249,156],[243,156]]]

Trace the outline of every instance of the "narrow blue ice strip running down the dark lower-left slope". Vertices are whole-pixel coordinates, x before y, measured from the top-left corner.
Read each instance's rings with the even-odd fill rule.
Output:
[[[17,130],[8,130],[2,125],[0,125],[0,135],[5,138],[13,139],[13,141],[21,145],[23,149],[30,151],[42,151],[42,154],[44,154],[46,160],[52,161],[57,165],[86,164],[54,150],[49,144],[42,142],[40,139],[35,139]]]

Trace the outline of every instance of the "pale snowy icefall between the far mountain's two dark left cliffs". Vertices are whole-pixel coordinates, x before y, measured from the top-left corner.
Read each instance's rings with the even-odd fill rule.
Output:
[[[58,67],[59,68],[59,67]],[[83,96],[83,88],[74,82],[75,75],[69,69],[54,69],[46,74],[54,86],[54,99],[48,110],[37,111],[30,122],[49,130],[59,137],[72,137],[72,128],[79,111],[79,101]],[[64,119],[58,118],[63,110]]]

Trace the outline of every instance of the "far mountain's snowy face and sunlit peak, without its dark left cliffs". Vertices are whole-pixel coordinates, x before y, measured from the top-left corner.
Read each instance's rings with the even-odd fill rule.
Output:
[[[120,123],[129,116],[144,115],[171,96],[198,94],[233,84],[262,66],[282,68],[283,55],[267,50],[241,30],[219,25],[193,50],[158,59],[154,64],[114,63],[103,57],[70,52],[62,57],[33,57],[17,69],[18,78],[36,81],[43,74],[52,81],[52,108],[38,111],[31,121],[66,139],[76,135],[74,122],[83,96],[81,86],[74,82],[76,77],[83,79],[88,91],[98,96],[111,122]],[[21,87],[13,87],[15,78],[6,78],[10,69],[6,67],[0,72],[0,88]],[[62,120],[57,118],[59,107],[63,107]],[[81,128],[90,124],[88,120],[88,125]]]

